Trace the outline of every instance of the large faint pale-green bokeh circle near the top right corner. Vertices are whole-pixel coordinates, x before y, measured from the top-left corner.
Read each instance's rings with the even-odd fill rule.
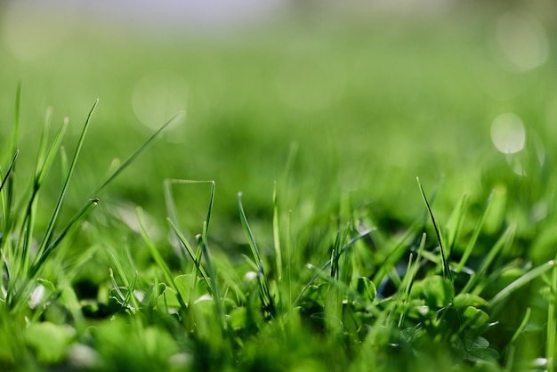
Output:
[[[526,12],[505,12],[497,21],[496,41],[505,59],[519,71],[536,69],[549,56],[544,27]]]

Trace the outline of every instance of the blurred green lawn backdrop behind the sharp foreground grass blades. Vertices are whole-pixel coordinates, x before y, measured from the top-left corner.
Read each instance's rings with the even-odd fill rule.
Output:
[[[440,221],[463,193],[479,211],[496,189],[507,218],[542,230],[554,221],[556,192],[556,8],[550,0],[2,1],[0,140],[5,148],[19,81],[23,177],[47,107],[53,127],[70,118],[71,154],[100,98],[71,213],[115,158],[183,110],[101,207],[125,214],[140,205],[164,224],[165,178],[215,180],[213,235],[232,242],[239,190],[256,229],[270,228],[274,182],[297,222],[327,219],[349,198],[396,229],[424,209],[416,176],[427,191],[443,180]],[[11,155],[3,156],[5,167]],[[61,175],[51,178],[55,195]],[[200,229],[207,188],[176,193],[183,223]],[[48,211],[54,198],[43,199]],[[494,223],[496,233],[505,221]]]

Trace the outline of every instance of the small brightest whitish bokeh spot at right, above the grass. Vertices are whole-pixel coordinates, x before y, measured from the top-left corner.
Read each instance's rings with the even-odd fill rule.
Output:
[[[526,142],[526,128],[521,118],[511,112],[496,117],[491,123],[491,141],[504,154],[521,151]]]

